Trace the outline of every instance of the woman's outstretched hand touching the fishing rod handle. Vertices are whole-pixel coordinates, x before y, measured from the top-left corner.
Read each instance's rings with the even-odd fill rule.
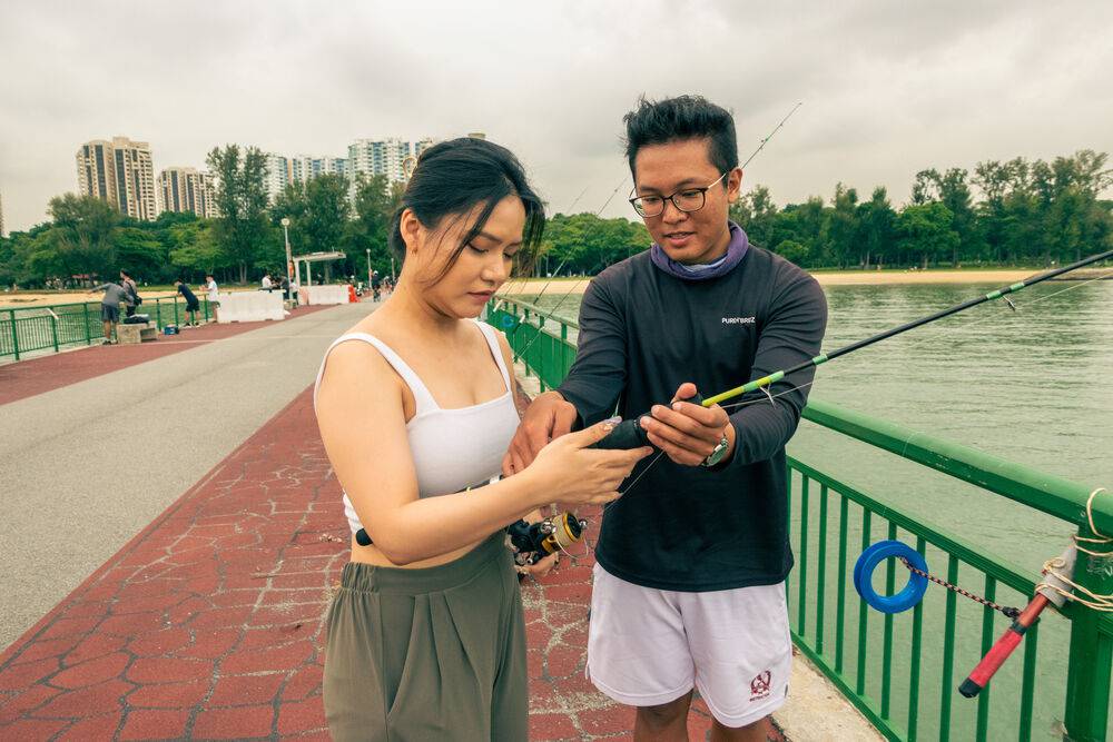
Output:
[[[613,421],[604,421],[543,447],[523,472],[536,487],[538,502],[577,506],[602,505],[618,498],[619,485],[653,449],[649,446],[630,451],[588,448],[613,427]]]

